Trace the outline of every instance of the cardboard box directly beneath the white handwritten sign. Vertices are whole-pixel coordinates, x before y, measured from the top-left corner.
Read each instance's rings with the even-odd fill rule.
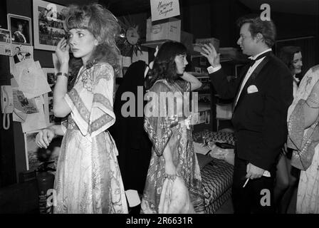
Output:
[[[160,21],[149,18],[146,23],[146,41],[181,41],[181,20],[174,17]]]

